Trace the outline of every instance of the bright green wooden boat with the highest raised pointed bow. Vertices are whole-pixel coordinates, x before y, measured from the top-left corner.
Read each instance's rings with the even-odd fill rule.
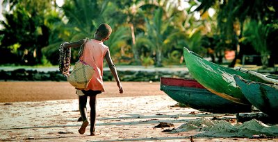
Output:
[[[236,103],[250,104],[240,89],[236,86],[236,81],[233,76],[234,74],[247,80],[264,82],[261,78],[251,74],[209,62],[196,53],[189,51],[187,48],[183,48],[183,55],[191,76],[213,94],[217,94],[227,100]]]

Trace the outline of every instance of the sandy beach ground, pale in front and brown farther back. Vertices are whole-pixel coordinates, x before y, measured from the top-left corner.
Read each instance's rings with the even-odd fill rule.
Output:
[[[177,102],[159,90],[159,82],[122,82],[124,94],[117,93],[115,82],[105,85],[97,100],[97,136],[89,136],[89,127],[78,133],[78,100],[67,82],[0,82],[0,141],[278,141],[162,132],[196,118],[224,115],[172,107]],[[174,126],[154,127],[160,122]]]

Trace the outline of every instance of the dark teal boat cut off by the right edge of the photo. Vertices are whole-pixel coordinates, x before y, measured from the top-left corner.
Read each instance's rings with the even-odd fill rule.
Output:
[[[243,92],[245,98],[261,112],[269,116],[278,114],[278,85],[269,85],[261,82],[245,80],[234,76],[236,85]]]

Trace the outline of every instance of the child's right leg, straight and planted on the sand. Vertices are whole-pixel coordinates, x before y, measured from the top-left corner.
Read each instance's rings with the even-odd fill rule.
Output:
[[[95,136],[95,123],[96,123],[96,117],[97,117],[97,110],[96,110],[96,105],[97,105],[97,95],[90,96],[90,107],[91,107],[91,112],[90,112],[90,120],[91,120],[91,127],[90,127],[90,132],[91,136]]]

